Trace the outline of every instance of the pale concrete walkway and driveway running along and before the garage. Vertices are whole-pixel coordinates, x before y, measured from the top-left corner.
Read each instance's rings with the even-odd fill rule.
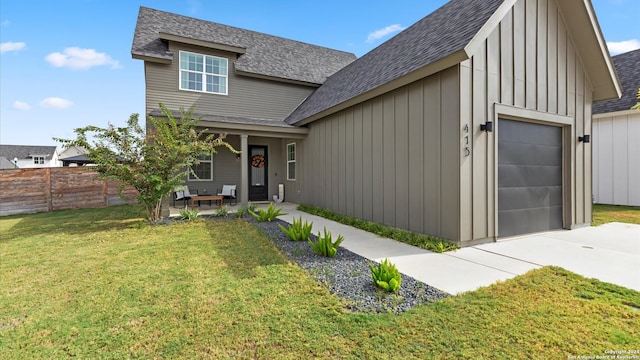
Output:
[[[313,232],[342,235],[342,247],[367,259],[388,258],[400,272],[450,294],[504,281],[546,265],[640,291],[640,225],[610,223],[515,237],[437,254],[286,205],[281,220],[302,216]]]

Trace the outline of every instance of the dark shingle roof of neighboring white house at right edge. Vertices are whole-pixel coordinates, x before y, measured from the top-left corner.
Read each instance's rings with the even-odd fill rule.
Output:
[[[631,110],[631,107],[640,101],[636,97],[638,88],[640,88],[640,49],[614,56],[613,63],[618,71],[618,77],[624,92],[619,100],[614,99],[594,103],[594,114]]]

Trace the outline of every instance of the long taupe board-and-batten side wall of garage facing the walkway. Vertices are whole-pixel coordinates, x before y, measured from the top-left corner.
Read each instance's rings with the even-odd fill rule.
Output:
[[[301,202],[459,237],[458,67],[309,124]]]

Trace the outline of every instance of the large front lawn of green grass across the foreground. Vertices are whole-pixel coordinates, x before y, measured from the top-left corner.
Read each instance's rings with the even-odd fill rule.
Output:
[[[640,343],[640,293],[560,268],[353,314],[243,221],[149,226],[123,206],[0,231],[0,359],[566,359]]]

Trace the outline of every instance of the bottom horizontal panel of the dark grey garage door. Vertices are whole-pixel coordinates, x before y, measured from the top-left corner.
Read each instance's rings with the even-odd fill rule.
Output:
[[[545,209],[499,211],[501,237],[562,228],[562,206]]]

